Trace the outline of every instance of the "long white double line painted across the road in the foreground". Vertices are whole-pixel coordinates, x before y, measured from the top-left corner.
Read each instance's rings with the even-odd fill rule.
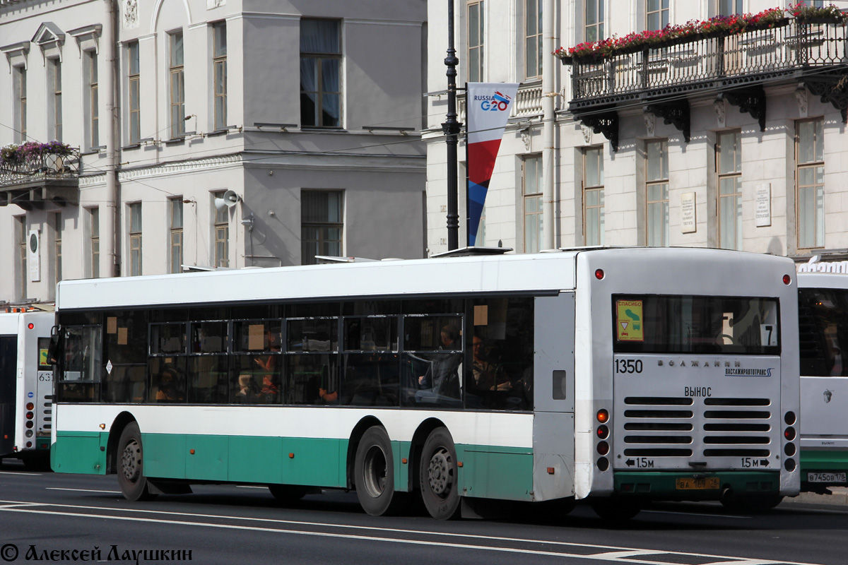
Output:
[[[504,552],[504,553],[520,553],[520,554],[528,554],[528,555],[546,555],[553,557],[572,557],[574,559],[589,559],[589,560],[598,560],[598,561],[609,561],[609,562],[617,562],[621,557],[628,557],[628,562],[632,563],[642,563],[643,565],[671,565],[668,562],[662,561],[648,561],[635,559],[633,557],[638,557],[641,555],[677,555],[677,556],[689,556],[689,557],[711,557],[715,558],[715,562],[711,562],[710,565],[719,565],[721,563],[732,563],[733,565],[816,565],[814,563],[809,562],[789,562],[789,561],[781,561],[781,560],[768,560],[768,559],[745,559],[744,557],[728,557],[728,556],[718,556],[718,555],[710,555],[706,553],[687,553],[683,551],[662,551],[662,550],[648,550],[644,548],[631,548],[631,547],[616,547],[616,546],[596,546],[594,544],[583,544],[583,543],[572,543],[566,541],[555,541],[555,540],[527,540],[524,538],[507,538],[507,537],[499,537],[499,536],[489,536],[489,535],[466,535],[466,534],[455,534],[455,533],[446,533],[446,532],[433,532],[433,531],[424,531],[424,530],[413,530],[413,529],[391,529],[391,528],[378,528],[373,526],[355,526],[352,524],[333,524],[333,523],[319,523],[319,522],[301,522],[294,520],[278,520],[273,518],[249,518],[249,517],[237,517],[237,516],[222,516],[215,514],[198,514],[198,513],[189,513],[189,512],[161,512],[156,510],[136,510],[136,509],[126,509],[126,508],[106,508],[106,507],[89,507],[89,506],[81,506],[81,505],[71,505],[71,504],[52,504],[49,502],[44,503],[35,503],[35,502],[21,502],[21,501],[0,501],[0,505],[3,503],[9,505],[25,505],[25,507],[3,507],[0,506],[0,512],[23,512],[23,513],[33,513],[33,514],[47,514],[53,516],[69,516],[75,518],[102,518],[106,520],[120,520],[120,521],[129,521],[129,522],[149,522],[149,523],[170,523],[175,525],[184,525],[184,526],[199,526],[203,528],[219,528],[219,529],[240,529],[240,530],[248,530],[248,531],[258,531],[258,532],[269,532],[276,534],[290,534],[290,535],[310,535],[315,537],[326,537],[326,538],[342,538],[348,540],[367,540],[367,541],[384,541],[388,543],[400,543],[400,544],[409,544],[414,546],[438,546],[438,547],[455,547],[461,549],[472,549],[479,551],[496,551],[496,552]],[[471,539],[480,539],[480,540],[498,540],[498,541],[511,541],[518,542],[522,544],[532,544],[532,545],[546,545],[546,546],[577,546],[581,548],[586,547],[597,547],[600,550],[616,550],[616,551],[605,551],[595,554],[583,554],[583,553],[567,553],[566,551],[542,551],[542,550],[533,550],[533,549],[521,549],[517,547],[492,547],[490,545],[487,546],[477,546],[471,544],[461,544],[461,543],[453,543],[453,542],[445,542],[445,541],[426,541],[426,540],[411,540],[411,539],[403,539],[403,538],[389,538],[389,537],[379,537],[374,535],[355,535],[355,534],[341,534],[341,533],[330,533],[330,532],[310,532],[298,529],[282,529],[282,528],[268,528],[268,527],[259,527],[259,526],[247,526],[247,525],[238,525],[238,524],[222,524],[222,523],[208,523],[208,522],[192,522],[192,521],[184,521],[184,520],[162,520],[159,518],[142,518],[139,516],[114,516],[108,514],[88,514],[82,512],[58,512],[52,510],[36,510],[35,506],[41,507],[57,507],[57,508],[75,508],[75,509],[85,509],[85,510],[97,510],[100,512],[136,512],[136,513],[148,513],[148,514],[158,514],[158,515],[170,515],[170,516],[182,516],[187,518],[222,518],[227,520],[249,520],[254,522],[265,522],[265,523],[287,523],[291,525],[304,525],[304,526],[320,526],[323,528],[336,528],[336,529],[360,529],[360,530],[378,530],[382,532],[393,532],[399,534],[414,534],[414,535],[423,535],[423,536],[437,536],[437,537],[463,537],[463,538],[471,538]]]

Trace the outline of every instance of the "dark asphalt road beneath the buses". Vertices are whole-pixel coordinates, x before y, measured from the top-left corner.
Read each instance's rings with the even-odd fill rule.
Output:
[[[282,507],[265,488],[199,485],[194,490],[128,502],[114,475],[31,473],[7,460],[0,468],[0,565],[36,559],[204,565],[848,564],[848,506],[838,496],[784,501],[762,515],[734,515],[711,503],[658,504],[613,525],[588,507],[560,518],[512,511],[496,520],[438,522],[420,512],[373,518],[361,511],[354,493],[325,491]]]

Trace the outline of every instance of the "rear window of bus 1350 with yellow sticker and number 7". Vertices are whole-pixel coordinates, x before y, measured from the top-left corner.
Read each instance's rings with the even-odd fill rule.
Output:
[[[778,355],[778,299],[612,296],[616,353]]]

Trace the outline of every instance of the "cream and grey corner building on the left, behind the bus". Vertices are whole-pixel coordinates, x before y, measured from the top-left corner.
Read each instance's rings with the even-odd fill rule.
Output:
[[[0,147],[29,144],[0,162],[0,304],[421,258],[426,22],[420,0],[0,1]]]

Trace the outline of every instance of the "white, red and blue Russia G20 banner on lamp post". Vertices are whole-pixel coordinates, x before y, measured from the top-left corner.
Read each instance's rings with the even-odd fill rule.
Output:
[[[494,159],[515,103],[516,82],[469,82],[466,88],[468,122],[468,245],[477,241]]]

